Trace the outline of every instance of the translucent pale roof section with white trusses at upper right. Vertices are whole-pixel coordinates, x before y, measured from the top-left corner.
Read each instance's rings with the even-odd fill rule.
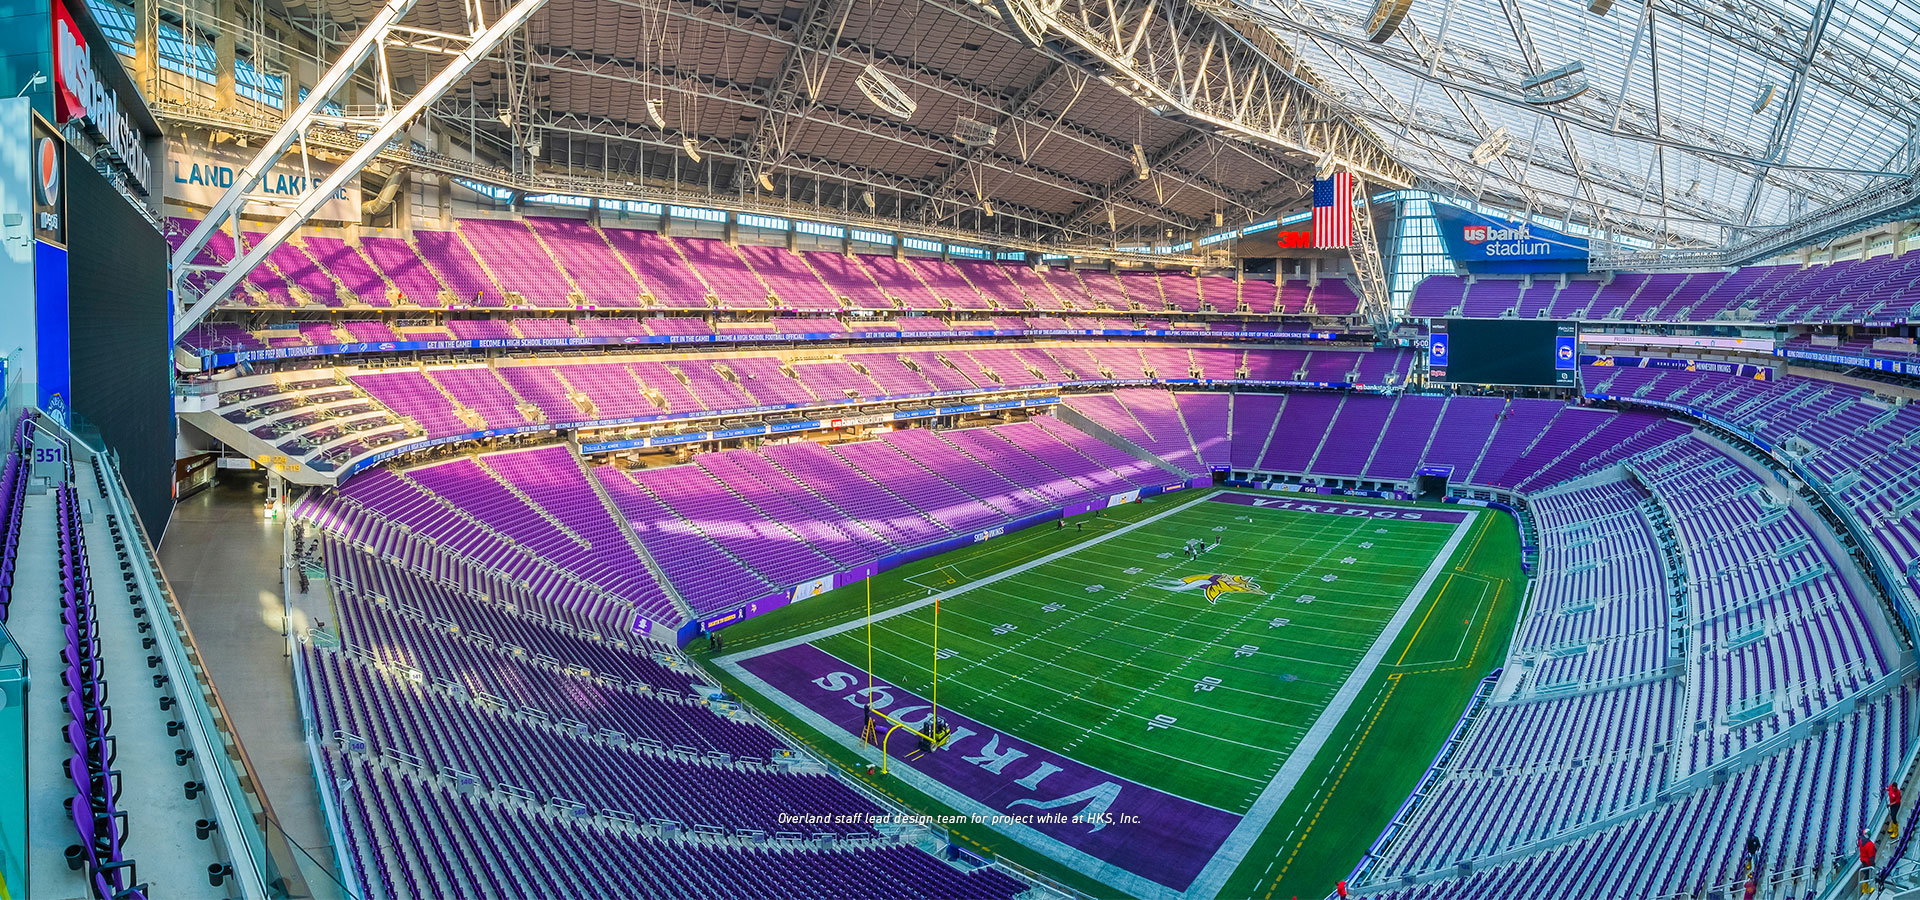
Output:
[[[1920,159],[1916,0],[1413,0],[1380,44],[1365,0],[1196,2],[1273,29],[1434,190],[1655,246],[1751,238]]]

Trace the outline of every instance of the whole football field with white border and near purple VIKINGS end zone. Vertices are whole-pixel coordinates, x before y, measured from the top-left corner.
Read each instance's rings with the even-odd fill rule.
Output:
[[[868,762],[868,708],[879,729],[937,708],[947,746],[887,741],[887,777],[1117,892],[1219,896],[1296,787],[1325,791],[1302,785],[1315,758],[1352,743],[1348,714],[1490,514],[1240,491],[1142,507],[1091,539],[1089,516],[1000,537],[1035,553],[987,572],[968,551],[904,566],[872,618],[872,585],[795,604],[718,662]]]

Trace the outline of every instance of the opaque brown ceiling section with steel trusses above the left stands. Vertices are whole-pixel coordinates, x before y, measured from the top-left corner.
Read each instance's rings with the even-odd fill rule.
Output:
[[[309,2],[342,23],[378,8]],[[1329,150],[1373,171],[1373,184],[1411,180],[1359,119],[1298,81],[1269,31],[1231,35],[1190,2],[1144,4],[1125,31],[1104,29],[1110,50],[1140,65],[1175,61],[1135,71],[1071,42],[1035,48],[985,0],[551,0],[428,117],[447,140],[436,152],[513,171],[1064,246],[1181,240],[1298,209]],[[465,10],[419,0],[407,23],[453,29]],[[1114,4],[1056,10],[1089,21]],[[1213,40],[1188,46],[1192,35]],[[426,83],[432,59],[396,54],[394,92]],[[872,71],[908,115],[862,90]],[[1154,79],[1185,79],[1183,102],[1233,90],[1233,121],[1185,115],[1146,90]],[[1273,134],[1248,134],[1244,121]]]

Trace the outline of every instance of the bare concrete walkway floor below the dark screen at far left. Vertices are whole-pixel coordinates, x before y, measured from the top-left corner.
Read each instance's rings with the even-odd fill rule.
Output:
[[[173,509],[159,566],[186,612],[186,628],[275,819],[311,862],[332,871],[313,762],[300,731],[294,668],[286,658],[282,528],[280,520],[261,514],[265,497],[257,476],[223,472],[211,487]],[[296,612],[296,618],[305,616]],[[321,618],[330,616],[323,610]],[[296,628],[305,629],[305,622]],[[309,890],[330,894],[323,885],[309,885]]]

